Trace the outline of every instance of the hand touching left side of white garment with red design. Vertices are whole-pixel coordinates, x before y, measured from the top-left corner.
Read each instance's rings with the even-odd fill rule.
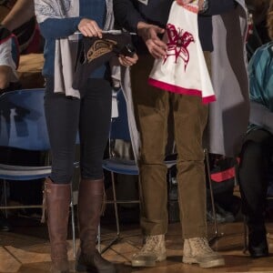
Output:
[[[166,56],[167,45],[158,37],[158,35],[164,34],[164,28],[140,22],[137,25],[137,32],[144,40],[152,56],[155,58],[163,58]]]

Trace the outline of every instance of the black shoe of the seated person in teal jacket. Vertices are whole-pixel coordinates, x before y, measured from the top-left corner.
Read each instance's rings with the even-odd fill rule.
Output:
[[[268,257],[267,231],[264,225],[248,227],[248,251],[252,258]]]

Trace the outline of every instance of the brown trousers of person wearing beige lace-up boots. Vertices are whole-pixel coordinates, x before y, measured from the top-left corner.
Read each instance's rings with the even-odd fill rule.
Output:
[[[140,132],[140,225],[145,235],[167,233],[167,146],[169,112],[174,117],[177,185],[183,238],[207,236],[203,131],[207,106],[197,96],[184,96],[147,85],[151,56],[139,56],[131,67],[131,85]],[[170,110],[171,109],[171,110]]]

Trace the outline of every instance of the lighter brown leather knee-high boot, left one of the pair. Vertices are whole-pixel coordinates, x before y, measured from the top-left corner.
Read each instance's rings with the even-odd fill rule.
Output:
[[[45,179],[47,227],[52,259],[51,271],[54,273],[69,272],[66,238],[70,200],[70,184],[55,184],[49,178]]]

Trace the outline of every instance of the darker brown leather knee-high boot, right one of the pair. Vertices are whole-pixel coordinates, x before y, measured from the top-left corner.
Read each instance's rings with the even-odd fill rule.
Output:
[[[78,192],[78,220],[80,249],[76,258],[76,270],[114,273],[116,269],[96,250],[97,227],[104,198],[103,179],[82,179]]]

